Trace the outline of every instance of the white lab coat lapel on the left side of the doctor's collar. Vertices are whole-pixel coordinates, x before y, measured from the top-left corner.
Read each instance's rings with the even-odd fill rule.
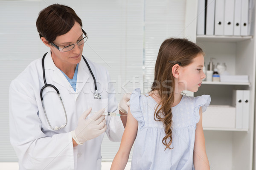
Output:
[[[66,79],[64,74],[61,73],[61,71],[58,69],[58,67],[56,67],[56,65],[54,64],[54,62],[52,60],[52,56],[51,56],[51,51],[48,51],[48,53],[44,59],[44,68],[49,69],[49,70],[54,70],[53,77],[52,77],[53,82],[63,86],[68,91],[70,91],[72,94],[75,93],[74,89],[72,88],[72,86],[70,85],[70,83],[68,82],[68,80]],[[47,79],[47,75],[46,75],[46,79]],[[49,82],[47,82],[47,83],[49,83]]]

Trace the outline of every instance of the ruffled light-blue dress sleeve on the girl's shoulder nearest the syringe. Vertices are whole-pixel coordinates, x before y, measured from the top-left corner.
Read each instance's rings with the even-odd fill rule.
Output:
[[[143,113],[142,109],[140,107],[140,103],[143,103],[141,101],[141,91],[140,88],[135,89],[130,98],[130,110],[132,116],[138,121],[141,122],[142,125],[144,125],[144,118],[143,118]]]

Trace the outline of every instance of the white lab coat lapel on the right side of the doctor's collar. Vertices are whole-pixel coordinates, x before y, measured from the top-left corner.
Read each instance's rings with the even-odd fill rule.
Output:
[[[77,78],[76,78],[76,98],[83,90],[84,85],[87,82],[87,80],[89,79],[89,77],[90,77],[89,69],[82,57],[81,61],[79,62],[79,65],[78,65],[78,73],[77,73]]]

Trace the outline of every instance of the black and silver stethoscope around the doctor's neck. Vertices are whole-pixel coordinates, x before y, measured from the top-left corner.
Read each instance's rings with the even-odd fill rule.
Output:
[[[63,105],[63,102],[62,102],[62,99],[61,99],[61,95],[60,95],[60,92],[58,91],[58,88],[56,88],[54,85],[47,84],[47,82],[46,82],[46,79],[45,79],[45,71],[44,71],[44,58],[45,58],[46,54],[47,54],[47,53],[44,54],[43,59],[42,59],[44,86],[41,88],[40,97],[41,97],[41,101],[42,101],[42,106],[43,106],[43,108],[44,108],[44,100],[43,100],[43,91],[44,91],[44,88],[52,87],[52,88],[54,88],[54,90],[57,92],[57,94],[58,94],[58,96],[59,96],[59,98],[60,98],[60,100],[61,100],[61,104],[62,104],[64,113],[65,113],[65,118],[66,118],[66,123],[65,123],[65,125],[61,125],[61,127],[58,127],[58,126],[52,127],[52,125],[50,124],[49,119],[48,119],[48,117],[47,117],[45,108],[44,108],[44,114],[45,114],[45,117],[46,117],[46,119],[47,119],[47,122],[48,122],[49,126],[52,128],[52,130],[59,130],[59,129],[61,129],[61,128],[64,128],[64,127],[67,125],[67,113],[66,113],[65,107],[64,107],[64,105]],[[87,60],[84,58],[83,55],[82,55],[82,57],[83,57],[83,59],[84,59],[84,62],[85,62],[86,65],[87,65],[87,67],[89,68],[90,74],[92,75],[93,80],[94,80],[94,87],[95,87],[94,99],[101,99],[101,95],[98,93],[97,84],[96,84],[96,79],[95,79],[95,77],[94,77],[94,75],[93,75],[93,72],[92,72],[92,70],[91,70],[91,68],[90,68],[90,65],[88,64]]]

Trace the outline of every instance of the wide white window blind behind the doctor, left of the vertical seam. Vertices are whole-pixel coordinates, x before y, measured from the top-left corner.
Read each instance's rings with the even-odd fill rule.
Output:
[[[9,141],[9,85],[27,65],[43,56],[48,48],[35,26],[38,13],[57,0],[0,1],[0,161],[17,161]],[[83,55],[108,69],[116,89],[116,102],[125,92],[139,87],[143,63],[143,0],[69,1],[88,34]],[[39,93],[39,92],[38,92]],[[119,142],[105,135],[102,160],[112,160]]]

